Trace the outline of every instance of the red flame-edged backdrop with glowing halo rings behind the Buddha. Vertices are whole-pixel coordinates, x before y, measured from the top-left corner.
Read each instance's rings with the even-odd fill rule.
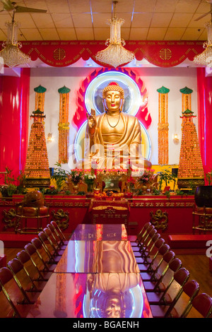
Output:
[[[77,109],[73,115],[73,125],[77,127],[74,141],[76,160],[83,158],[84,138],[86,134],[87,117],[90,109],[95,109],[96,114],[104,112],[102,104],[102,90],[110,81],[117,81],[124,89],[123,112],[134,115],[141,124],[141,140],[143,157],[151,157],[151,139],[148,128],[151,125],[151,114],[148,113],[148,93],[140,77],[131,69],[95,69],[81,83],[78,90]]]

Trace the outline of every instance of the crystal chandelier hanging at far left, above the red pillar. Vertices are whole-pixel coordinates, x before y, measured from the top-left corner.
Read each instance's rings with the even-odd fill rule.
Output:
[[[14,17],[14,16],[13,16]],[[31,61],[31,58],[20,51],[22,47],[21,43],[18,42],[18,24],[14,21],[11,23],[6,23],[7,30],[7,40],[2,43],[4,47],[0,52],[0,57],[4,59],[4,64],[8,67],[15,67],[22,64],[27,64]]]

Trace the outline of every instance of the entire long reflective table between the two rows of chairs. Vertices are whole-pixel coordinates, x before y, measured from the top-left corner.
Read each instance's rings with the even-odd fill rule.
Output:
[[[152,318],[123,224],[76,227],[28,314],[50,317]]]

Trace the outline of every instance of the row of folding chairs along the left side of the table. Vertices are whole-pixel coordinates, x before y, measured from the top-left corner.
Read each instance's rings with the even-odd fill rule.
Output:
[[[0,317],[26,317],[49,280],[68,241],[52,221],[0,268]]]

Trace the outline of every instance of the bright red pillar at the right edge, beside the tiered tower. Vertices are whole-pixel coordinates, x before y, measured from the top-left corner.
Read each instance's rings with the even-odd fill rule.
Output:
[[[212,77],[197,68],[198,131],[204,171],[212,170]]]

